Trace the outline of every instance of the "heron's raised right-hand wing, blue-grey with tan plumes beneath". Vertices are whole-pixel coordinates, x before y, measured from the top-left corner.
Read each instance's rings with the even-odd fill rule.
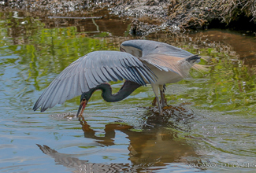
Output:
[[[200,59],[198,55],[189,53],[176,46],[151,40],[125,41],[121,44],[122,50],[139,56],[139,60],[143,61],[143,63],[147,62],[146,64],[150,65],[149,67],[153,65],[161,71],[171,71],[181,76],[187,75],[187,71],[184,70],[186,66],[191,68],[194,65],[192,60]]]

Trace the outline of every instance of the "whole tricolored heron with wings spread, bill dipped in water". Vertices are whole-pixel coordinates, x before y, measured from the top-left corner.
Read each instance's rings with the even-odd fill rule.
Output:
[[[44,90],[34,105],[34,111],[41,106],[41,112],[44,112],[81,94],[77,112],[80,117],[95,90],[102,90],[105,101],[115,102],[127,98],[139,86],[150,83],[162,114],[165,83],[184,79],[191,67],[201,68],[195,64],[200,60],[198,55],[163,42],[129,40],[121,43],[120,50],[87,53],[69,64]],[[112,88],[106,82],[123,79],[121,89],[112,94]]]

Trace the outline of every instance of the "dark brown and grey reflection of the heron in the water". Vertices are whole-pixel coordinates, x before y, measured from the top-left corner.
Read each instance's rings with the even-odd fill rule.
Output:
[[[177,108],[178,107],[176,107],[176,109]],[[183,111],[180,111],[176,114],[176,116],[189,115],[187,115],[187,113],[184,114]],[[149,116],[147,118],[153,117]],[[163,116],[155,116],[155,118],[161,120],[164,119]],[[81,119],[83,119],[83,117]],[[172,167],[173,170],[176,170],[177,167],[171,166],[172,164],[184,165],[184,167],[180,167],[180,171],[202,171],[199,169],[192,169],[188,166],[186,167],[186,164],[198,164],[199,155],[195,152],[196,147],[193,147],[193,145],[189,143],[191,140],[187,141],[184,138],[177,140],[177,138],[179,138],[179,133],[176,131],[176,123],[178,122],[175,122],[174,126],[172,125],[173,122],[169,121],[158,123],[161,124],[160,126],[154,126],[154,123],[158,121],[156,119],[148,119],[147,123],[143,124],[141,131],[131,131],[131,129],[134,129],[135,127],[125,125],[124,123],[110,123],[106,124],[104,132],[95,131],[95,129],[91,128],[86,121],[80,121],[84,137],[88,140],[93,140],[93,143],[89,142],[89,145],[93,144],[92,146],[100,149],[102,147],[117,146],[118,142],[121,142],[122,149],[119,145],[115,152],[119,153],[121,158],[128,156],[130,163],[126,164],[120,163],[118,161],[120,159],[119,157],[117,157],[115,159],[116,161],[114,161],[117,163],[112,164],[106,164],[106,160],[102,160],[102,162],[105,164],[97,164],[92,163],[91,160],[80,160],[77,158],[79,156],[86,156],[87,159],[90,159],[91,154],[94,155],[95,153],[91,153],[91,147],[85,148],[85,150],[83,148],[83,153],[85,152],[86,154],[80,155],[58,153],[58,151],[50,149],[50,147],[47,145],[37,145],[43,153],[53,157],[56,164],[61,164],[65,167],[75,169],[72,172],[152,172],[152,170],[158,171],[163,169],[163,167],[166,168],[166,166],[169,167],[169,170],[172,170]],[[182,121],[182,123],[184,123],[184,121]],[[96,134],[98,132],[103,133],[104,135],[98,136]],[[119,134],[120,132],[121,134]],[[117,140],[117,138],[120,138],[118,135],[124,134],[126,134],[125,138],[128,138],[128,144],[125,144],[124,141]],[[123,149],[126,149],[127,146],[128,150],[124,151]],[[95,149],[95,147],[93,148]]]

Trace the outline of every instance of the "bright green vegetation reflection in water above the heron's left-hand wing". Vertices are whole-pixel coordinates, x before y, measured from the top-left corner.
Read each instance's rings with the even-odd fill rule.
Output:
[[[54,28],[45,29],[40,28],[32,35],[26,35],[28,37],[19,36],[14,39],[27,39],[26,44],[18,44],[12,46],[6,46],[10,44],[11,39],[3,39],[9,37],[9,30],[5,29],[5,24],[9,23],[5,21],[0,25],[2,35],[0,46],[2,46],[1,54],[6,56],[8,54],[16,54],[20,57],[19,64],[29,64],[28,78],[32,78],[37,85],[37,77],[43,77],[49,73],[58,74],[72,61],[75,61],[78,57],[82,57],[86,53],[95,50],[109,50],[114,49],[106,46],[106,42],[98,39],[87,38],[85,35],[77,35],[76,28]],[[28,23],[30,24],[30,23]],[[34,24],[34,23],[33,23]],[[26,28],[24,28],[26,30]],[[105,36],[101,33],[98,36]],[[7,60],[15,61],[13,59]],[[29,81],[29,79],[27,79]],[[39,86],[46,87],[49,84],[47,78],[40,79]],[[45,84],[45,85],[44,85]],[[39,89],[39,88],[38,88]]]

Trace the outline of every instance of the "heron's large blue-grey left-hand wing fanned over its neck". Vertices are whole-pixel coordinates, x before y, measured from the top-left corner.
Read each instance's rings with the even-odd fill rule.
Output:
[[[62,104],[100,83],[130,80],[140,85],[154,83],[154,73],[137,57],[117,51],[95,51],[69,64],[35,102],[41,112]],[[145,81],[144,81],[145,80]]]

